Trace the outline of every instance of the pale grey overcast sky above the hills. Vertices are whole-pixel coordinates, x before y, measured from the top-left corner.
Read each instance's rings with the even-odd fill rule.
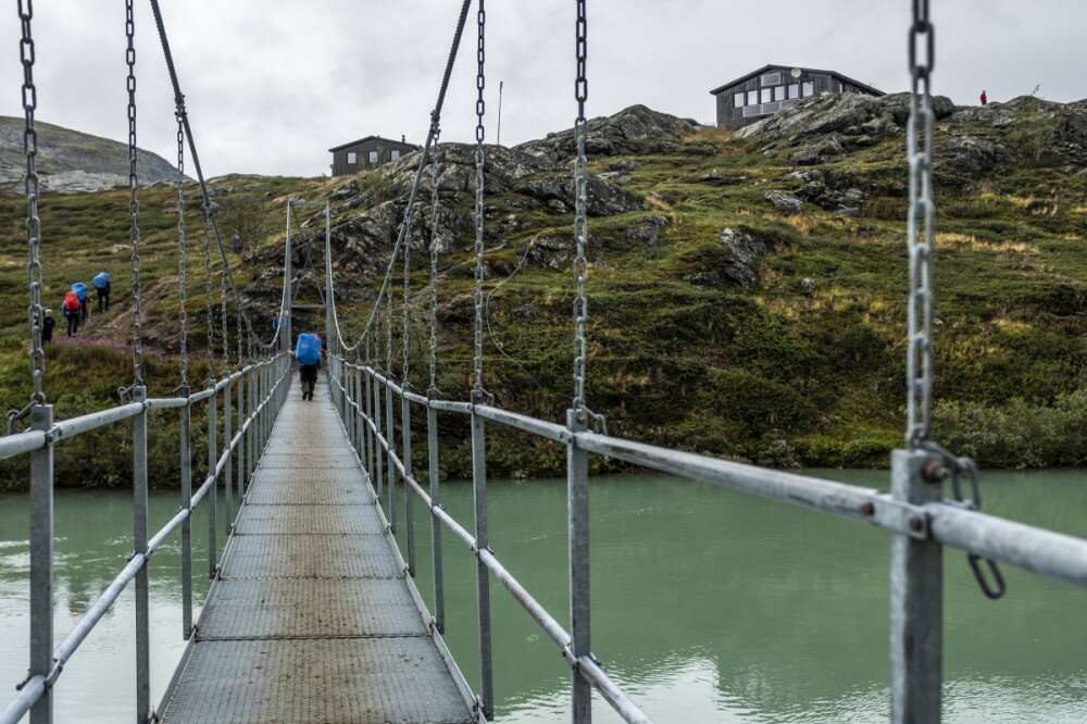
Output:
[[[976,103],[1040,84],[1050,100],[1087,96],[1084,0],[932,0],[935,90]],[[18,22],[0,20],[0,114],[21,115]],[[452,38],[458,0],[161,0],[209,176],[320,175],[333,146],[371,134],[421,141]],[[38,118],[124,140],[124,3],[34,5]],[[904,90],[910,0],[588,0],[591,115],[634,103],[709,123],[709,90],[766,63],[830,68]],[[173,93],[146,0],[137,1],[139,145],[176,155]],[[442,138],[475,127],[475,12],[443,113]],[[573,0],[487,3],[487,140],[505,82],[505,145],[571,125]],[[190,172],[191,175],[191,172]]]

